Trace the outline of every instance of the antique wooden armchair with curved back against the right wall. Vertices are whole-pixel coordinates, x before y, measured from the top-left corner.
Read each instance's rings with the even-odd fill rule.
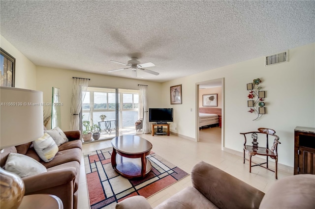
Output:
[[[281,144],[279,142],[279,136],[275,135],[276,131],[272,129],[266,129],[266,128],[258,128],[258,131],[252,131],[252,132],[246,132],[246,133],[240,133],[244,135],[245,142],[244,142],[244,162],[245,160],[248,160],[245,158],[245,153],[249,154],[249,161],[250,161],[250,173],[252,172],[252,167],[253,166],[260,166],[263,168],[266,168],[272,172],[275,172],[276,174],[276,179],[278,179],[278,151],[277,151],[277,146],[278,144]],[[252,145],[247,145],[247,137],[250,138],[252,137]],[[268,139],[270,137],[275,137],[274,142],[272,144],[272,147],[269,149],[269,144],[268,144]],[[258,137],[266,137],[266,146],[265,147],[260,147],[258,146]],[[252,156],[255,155],[260,155],[260,156],[266,156],[266,162],[263,163],[254,163],[252,165]],[[271,157],[276,161],[276,168],[275,170],[271,170],[268,167],[268,157]],[[263,164],[266,164],[266,166],[262,166]]]

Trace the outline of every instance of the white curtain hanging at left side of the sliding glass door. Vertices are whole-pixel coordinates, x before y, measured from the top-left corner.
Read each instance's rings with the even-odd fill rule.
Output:
[[[70,130],[80,130],[80,112],[89,79],[73,78],[72,98],[70,107]]]

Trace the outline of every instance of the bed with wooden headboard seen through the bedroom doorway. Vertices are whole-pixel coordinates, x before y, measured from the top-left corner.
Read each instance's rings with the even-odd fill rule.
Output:
[[[221,128],[221,108],[199,107],[199,128],[219,126]]]

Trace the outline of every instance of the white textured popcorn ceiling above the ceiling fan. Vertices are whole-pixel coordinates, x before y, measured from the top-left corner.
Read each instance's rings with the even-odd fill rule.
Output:
[[[0,1],[0,33],[35,65],[163,82],[315,42],[315,1]],[[5,50],[5,49],[4,49]],[[141,78],[143,77],[143,78]]]

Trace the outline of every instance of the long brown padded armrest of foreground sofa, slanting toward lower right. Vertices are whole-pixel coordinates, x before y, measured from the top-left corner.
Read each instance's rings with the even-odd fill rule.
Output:
[[[220,209],[258,209],[264,193],[206,162],[191,171],[192,186]]]

